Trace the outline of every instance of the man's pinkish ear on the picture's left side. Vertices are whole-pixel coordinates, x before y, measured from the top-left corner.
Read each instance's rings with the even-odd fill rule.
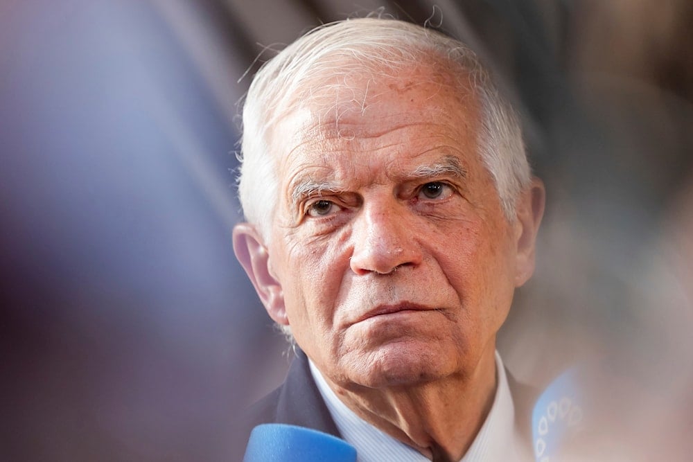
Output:
[[[260,233],[249,223],[234,226],[234,252],[255,287],[265,310],[277,323],[288,326],[281,283],[270,267],[270,254]]]

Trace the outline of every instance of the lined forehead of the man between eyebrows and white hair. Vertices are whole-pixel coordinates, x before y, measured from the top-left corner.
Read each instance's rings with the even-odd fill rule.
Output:
[[[389,172],[441,156],[459,157],[465,166],[478,161],[477,98],[450,72],[336,79],[277,124],[272,151],[280,183],[307,168],[344,173],[353,163],[375,167],[383,158]]]

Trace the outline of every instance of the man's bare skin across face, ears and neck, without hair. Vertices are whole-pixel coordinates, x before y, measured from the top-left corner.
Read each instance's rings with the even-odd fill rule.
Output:
[[[534,269],[543,186],[507,220],[477,98],[430,69],[352,79],[288,112],[272,132],[271,238],[240,224],[234,248],[350,409],[453,461],[493,402],[495,335]]]

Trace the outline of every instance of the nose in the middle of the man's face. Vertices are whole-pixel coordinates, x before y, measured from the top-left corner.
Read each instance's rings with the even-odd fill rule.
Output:
[[[400,204],[364,205],[354,219],[351,270],[364,275],[389,274],[421,263],[415,230]]]

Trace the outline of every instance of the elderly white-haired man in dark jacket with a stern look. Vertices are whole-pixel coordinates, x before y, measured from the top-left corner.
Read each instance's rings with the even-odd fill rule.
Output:
[[[247,427],[312,427],[360,461],[529,458],[495,337],[544,190],[475,55],[393,19],[324,26],[258,72],[243,125],[234,249],[298,347]]]

